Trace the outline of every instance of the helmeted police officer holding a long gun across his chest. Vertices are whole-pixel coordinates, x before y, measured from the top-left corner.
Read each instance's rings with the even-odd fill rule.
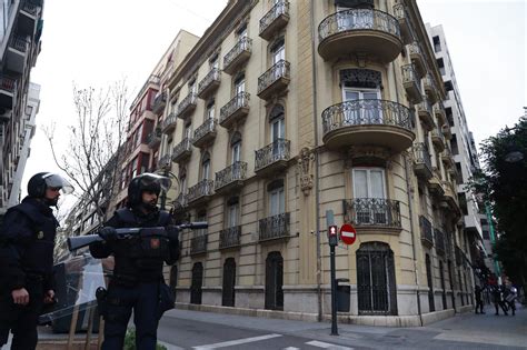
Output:
[[[128,321],[133,309],[137,349],[156,349],[160,318],[160,288],[163,261],[173,264],[179,258],[178,230],[166,211],[157,207],[161,190],[170,188],[170,179],[155,173],[133,178],[128,187],[127,208],[119,209],[99,230],[103,241],[90,244],[95,258],[113,254],[115,268],[106,301],[100,302],[105,323],[102,349],[122,349]],[[165,227],[167,236],[139,234],[118,239],[117,228]],[[173,301],[171,303],[173,307]]]

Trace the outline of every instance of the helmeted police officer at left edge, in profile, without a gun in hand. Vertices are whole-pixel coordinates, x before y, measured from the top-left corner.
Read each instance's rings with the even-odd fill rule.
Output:
[[[73,187],[51,172],[34,174],[28,197],[10,208],[0,229],[0,347],[13,333],[11,349],[37,347],[38,316],[53,292],[53,248],[59,223],[50,207]]]

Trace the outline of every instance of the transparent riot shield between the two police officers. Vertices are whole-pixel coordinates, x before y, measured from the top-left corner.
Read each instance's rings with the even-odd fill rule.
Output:
[[[76,330],[87,330],[89,311],[97,307],[96,290],[107,287],[101,260],[89,253],[73,257],[56,264],[54,274],[57,303],[43,311],[39,323],[51,323],[53,332],[68,332],[72,313],[78,312]]]

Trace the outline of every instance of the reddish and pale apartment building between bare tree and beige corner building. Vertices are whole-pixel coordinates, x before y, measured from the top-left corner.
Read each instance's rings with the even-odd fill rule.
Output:
[[[169,74],[183,60],[198,39],[195,34],[181,30],[131,103],[127,140],[123,146],[125,154],[119,166],[120,184],[117,196],[110,203],[110,212],[126,206],[127,188],[131,179],[146,171],[155,172],[166,169],[162,164],[167,164],[167,157],[165,159],[159,157],[162,126],[158,122],[159,114],[162,113],[167,103],[163,89]]]

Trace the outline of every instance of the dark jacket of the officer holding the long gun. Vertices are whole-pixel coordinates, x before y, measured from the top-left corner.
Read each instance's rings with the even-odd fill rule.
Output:
[[[166,227],[172,224],[172,219],[167,212],[161,213],[156,210],[148,214],[140,210],[120,209],[106,223],[107,227],[119,228],[149,228]],[[172,264],[179,257],[179,241],[161,241],[159,251],[162,253],[148,254],[143,252],[149,242],[135,237],[130,239],[117,240],[111,242],[95,242],[90,244],[90,253],[93,258],[102,259],[110,254],[115,258],[113,277],[121,281],[131,283],[140,281],[153,281],[162,277],[163,261]],[[165,246],[163,246],[165,244]],[[142,253],[143,252],[143,253]]]

